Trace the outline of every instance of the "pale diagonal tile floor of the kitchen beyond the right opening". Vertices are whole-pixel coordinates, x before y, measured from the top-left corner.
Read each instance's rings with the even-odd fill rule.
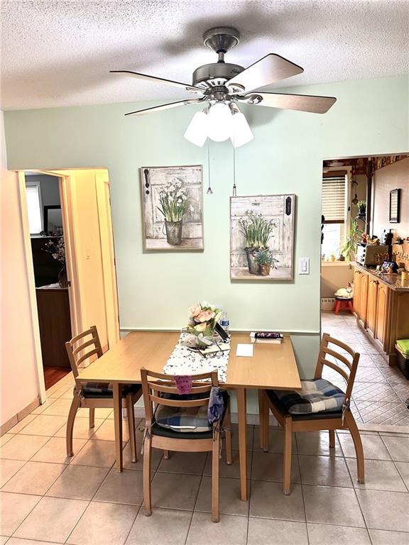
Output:
[[[322,331],[361,354],[351,404],[356,422],[377,427],[409,426],[409,380],[398,368],[388,365],[378,348],[357,326],[354,316],[322,312]],[[344,387],[344,379],[336,371],[327,369],[323,376]]]

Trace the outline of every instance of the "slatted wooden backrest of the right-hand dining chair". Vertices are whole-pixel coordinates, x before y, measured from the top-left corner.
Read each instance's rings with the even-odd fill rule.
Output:
[[[347,357],[344,356],[344,354],[338,353],[337,350],[333,348],[328,348],[329,344],[342,348],[342,350],[349,353],[352,361],[350,362]],[[327,360],[327,358],[325,358],[326,354],[332,356],[333,358],[335,358],[335,360],[342,362],[344,365],[347,366],[347,369],[342,368],[335,362]],[[325,333],[322,335],[320,353],[318,354],[317,367],[315,368],[315,378],[322,377],[322,368],[324,367],[324,365],[327,365],[328,367],[337,371],[337,373],[342,375],[342,377],[344,377],[344,379],[347,381],[347,388],[345,390],[345,401],[349,402],[349,400],[351,399],[352,388],[354,387],[354,380],[356,375],[356,369],[358,368],[359,356],[360,354],[358,352],[355,352],[350,346],[343,343],[342,341],[339,341],[337,338],[334,338],[329,334]]]

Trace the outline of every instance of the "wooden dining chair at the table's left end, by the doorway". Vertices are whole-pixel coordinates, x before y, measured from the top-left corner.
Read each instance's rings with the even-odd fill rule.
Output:
[[[114,396],[112,385],[107,382],[82,382],[78,368],[84,361],[102,356],[102,347],[99,341],[96,326],[73,337],[65,343],[71,370],[75,378],[74,397],[72,399],[67,422],[67,456],[73,456],[72,432],[74,429],[75,415],[80,407],[89,409],[89,427],[95,425],[95,409],[114,408]],[[132,461],[137,461],[135,415],[133,405],[142,395],[140,385],[129,385],[122,388],[122,407],[126,408],[129,424],[129,442],[131,444]]]

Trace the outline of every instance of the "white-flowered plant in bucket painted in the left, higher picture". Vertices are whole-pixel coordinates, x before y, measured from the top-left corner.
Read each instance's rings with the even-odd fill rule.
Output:
[[[166,241],[177,246],[182,242],[183,216],[195,209],[188,204],[187,189],[182,187],[182,182],[175,178],[159,192],[160,207],[157,209],[165,218]]]

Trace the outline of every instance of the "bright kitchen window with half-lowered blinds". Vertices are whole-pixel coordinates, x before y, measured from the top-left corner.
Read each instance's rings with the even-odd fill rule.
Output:
[[[329,175],[322,180],[322,258],[339,258],[345,239],[347,176]]]

